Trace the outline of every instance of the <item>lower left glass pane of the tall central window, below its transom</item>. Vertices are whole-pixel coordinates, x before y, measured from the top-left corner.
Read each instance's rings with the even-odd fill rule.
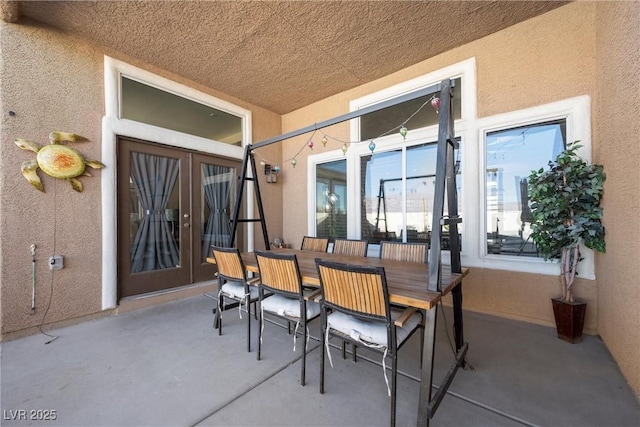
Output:
[[[403,228],[402,150],[360,158],[361,238],[395,240]]]

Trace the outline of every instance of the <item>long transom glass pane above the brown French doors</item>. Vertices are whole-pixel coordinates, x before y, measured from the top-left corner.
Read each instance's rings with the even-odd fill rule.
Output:
[[[242,146],[242,118],[122,77],[122,118]]]

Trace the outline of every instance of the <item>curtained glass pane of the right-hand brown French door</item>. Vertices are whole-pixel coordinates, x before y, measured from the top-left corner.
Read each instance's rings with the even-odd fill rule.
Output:
[[[202,182],[202,262],[211,255],[211,245],[228,247],[231,243],[231,218],[236,200],[236,169],[203,163]]]

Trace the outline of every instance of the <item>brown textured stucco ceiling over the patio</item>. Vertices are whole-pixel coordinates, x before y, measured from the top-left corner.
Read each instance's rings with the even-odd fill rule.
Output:
[[[559,1],[22,1],[31,19],[283,114]],[[18,21],[20,22],[20,21]]]

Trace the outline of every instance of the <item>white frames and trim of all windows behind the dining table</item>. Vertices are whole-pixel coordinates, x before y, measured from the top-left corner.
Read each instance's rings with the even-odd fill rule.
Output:
[[[487,226],[486,226],[486,159],[485,137],[490,132],[525,126],[535,123],[543,123],[556,119],[566,120],[567,142],[580,140],[583,147],[578,154],[586,161],[591,161],[591,103],[589,96],[579,96],[539,105],[518,111],[478,119],[476,103],[476,63],[475,58],[453,64],[441,70],[429,73],[418,78],[403,82],[355,99],[350,103],[350,110],[374,105],[388,99],[392,99],[415,90],[428,87],[447,78],[461,77],[461,118],[455,121],[456,137],[461,143],[462,175],[459,177],[462,187],[458,199],[460,215],[462,216],[462,264],[467,267],[480,267],[495,270],[508,270],[525,273],[538,273],[545,275],[558,275],[560,266],[558,262],[547,261],[542,258],[517,257],[487,253]],[[398,135],[388,135],[375,140],[376,152],[394,150],[409,147],[411,145],[435,141],[437,139],[437,125],[422,129],[412,130],[407,134],[406,141]],[[350,138],[359,141],[359,120],[351,120]],[[309,194],[309,222],[308,232],[315,232],[315,165],[317,163],[347,159],[347,187],[360,188],[360,163],[362,155],[370,153],[368,142],[352,144],[346,155],[341,150],[312,155],[308,158],[308,188],[313,194]],[[551,159],[550,159],[551,160]],[[404,160],[403,160],[404,162]],[[404,176],[403,164],[403,176]],[[360,234],[360,203],[359,197],[350,194],[347,211],[347,233],[350,238],[357,238]],[[370,245],[369,255],[375,256],[377,245]],[[581,248],[584,260],[580,263],[580,277],[595,279],[594,254],[592,250]],[[447,262],[448,252],[443,252],[443,262]]]

